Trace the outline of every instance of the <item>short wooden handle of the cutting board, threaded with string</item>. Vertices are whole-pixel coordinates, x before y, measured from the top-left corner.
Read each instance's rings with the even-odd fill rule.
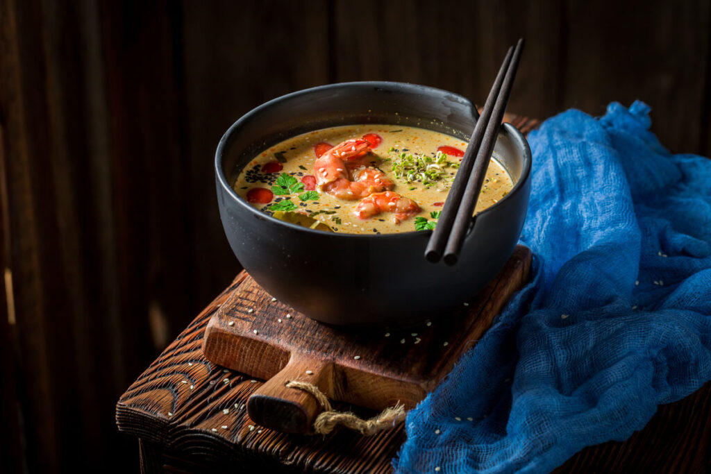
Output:
[[[247,413],[256,424],[284,433],[312,433],[323,406],[313,395],[286,387],[292,380],[309,382],[333,397],[333,362],[292,354],[287,365],[264,382],[247,400]]]

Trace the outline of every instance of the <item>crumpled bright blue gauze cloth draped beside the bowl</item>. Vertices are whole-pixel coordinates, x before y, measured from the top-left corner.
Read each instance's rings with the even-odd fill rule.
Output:
[[[533,281],[407,415],[400,473],[547,473],[711,379],[711,160],[649,108],[569,110],[529,136]]]

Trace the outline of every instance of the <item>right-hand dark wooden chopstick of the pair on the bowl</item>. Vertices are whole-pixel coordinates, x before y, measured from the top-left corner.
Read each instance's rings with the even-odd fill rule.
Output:
[[[449,239],[447,240],[447,247],[444,248],[444,262],[449,265],[456,263],[459,257],[459,250],[461,250],[461,244],[464,242],[464,237],[469,230],[469,225],[471,225],[471,215],[476,208],[476,201],[479,199],[481,185],[484,176],[486,176],[486,169],[491,161],[491,153],[493,152],[494,145],[496,145],[498,130],[501,127],[503,113],[506,112],[506,104],[508,104],[508,97],[513,87],[513,80],[516,76],[516,69],[518,68],[518,61],[520,60],[522,51],[523,38],[518,40],[516,48],[513,51],[513,58],[508,65],[506,76],[503,79],[501,92],[496,98],[496,104],[494,104],[491,119],[489,119],[486,125],[486,133],[476,153],[474,169],[468,183],[466,183],[464,195],[461,197],[459,206],[457,206],[454,224],[451,227]],[[445,206],[446,205],[447,203],[445,202]],[[439,222],[437,222],[437,225],[439,225]],[[435,227],[435,229],[437,229],[437,227]]]

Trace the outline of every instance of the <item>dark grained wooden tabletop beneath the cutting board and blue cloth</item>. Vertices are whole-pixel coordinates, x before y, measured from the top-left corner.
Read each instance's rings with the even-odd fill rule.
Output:
[[[516,116],[508,121],[524,132],[537,124]],[[262,381],[223,370],[201,351],[210,317],[243,279],[244,273],[237,276],[119,399],[117,425],[139,438],[142,472],[390,472],[390,461],[405,441],[402,424],[370,437],[351,431],[321,437],[250,429],[245,404]],[[584,448],[554,472],[711,472],[710,445],[711,382],[680,402],[661,406],[629,440]]]

